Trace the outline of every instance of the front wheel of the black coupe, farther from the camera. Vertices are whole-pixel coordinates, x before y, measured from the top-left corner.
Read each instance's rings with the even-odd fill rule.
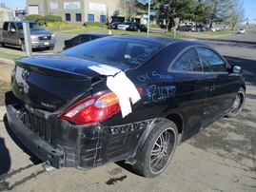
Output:
[[[244,88],[241,87],[234,99],[231,110],[229,111],[229,113],[227,113],[226,117],[231,118],[237,116],[242,108],[245,106],[245,103],[246,91]]]

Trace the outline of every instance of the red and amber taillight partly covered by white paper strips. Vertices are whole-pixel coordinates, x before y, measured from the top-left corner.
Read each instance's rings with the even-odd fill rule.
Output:
[[[142,93],[142,88],[137,88]],[[89,97],[69,107],[59,115],[77,125],[88,125],[107,119],[120,111],[118,97],[113,92]]]

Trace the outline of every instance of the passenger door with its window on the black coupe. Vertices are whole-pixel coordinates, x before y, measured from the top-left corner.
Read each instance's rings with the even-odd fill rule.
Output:
[[[238,87],[235,77],[228,72],[228,64],[217,52],[209,48],[197,48],[197,51],[207,84],[204,124],[208,124],[226,114],[233,103]]]

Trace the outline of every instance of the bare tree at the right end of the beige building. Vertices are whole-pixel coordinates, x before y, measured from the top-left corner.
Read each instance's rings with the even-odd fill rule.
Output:
[[[127,21],[130,21],[133,17],[136,17],[136,12],[138,10],[135,7],[136,0],[119,0],[119,7],[124,11]]]

